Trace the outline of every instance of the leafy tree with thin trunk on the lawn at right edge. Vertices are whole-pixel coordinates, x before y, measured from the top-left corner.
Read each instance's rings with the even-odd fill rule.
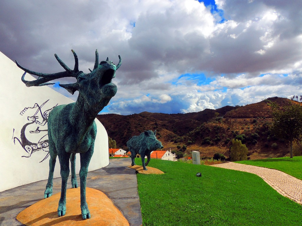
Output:
[[[292,103],[280,108],[273,102],[269,102],[273,110],[272,132],[275,137],[290,142],[290,155],[293,158],[293,140],[302,134],[302,105]]]

